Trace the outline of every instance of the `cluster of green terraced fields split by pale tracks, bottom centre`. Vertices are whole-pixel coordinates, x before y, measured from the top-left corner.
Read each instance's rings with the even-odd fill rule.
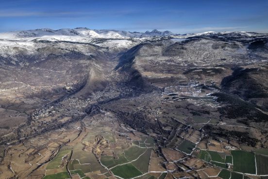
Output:
[[[112,156],[102,155],[101,163],[108,167],[115,176],[123,179],[129,179],[148,173],[151,152],[155,146],[155,141],[150,136],[141,136],[140,139],[139,141],[132,141],[133,145],[123,150],[122,153],[115,154],[113,151]],[[158,158],[154,159],[156,160],[152,162],[152,168],[159,169],[160,172],[165,172],[166,170],[164,168],[157,166],[159,164],[158,162],[163,161],[157,160]],[[161,173],[159,176],[160,175]],[[147,174],[141,178],[145,178],[146,176]],[[148,178],[153,179],[154,177],[148,174]]]

